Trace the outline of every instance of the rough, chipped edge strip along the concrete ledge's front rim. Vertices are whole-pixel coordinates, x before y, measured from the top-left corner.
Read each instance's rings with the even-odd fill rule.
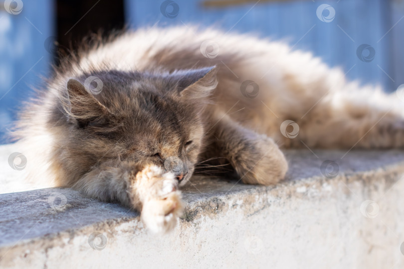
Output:
[[[321,190],[324,187],[334,186],[336,187],[335,190],[343,191],[348,196],[352,195],[349,193],[350,190],[348,189],[348,186],[354,182],[363,183],[363,185],[369,187],[377,187],[376,184],[373,183],[384,183],[386,185],[385,187],[390,189],[391,186],[400,180],[400,178],[398,178],[398,175],[400,174],[404,174],[404,162],[387,165],[369,171],[341,173],[334,178],[314,176],[296,181],[286,181],[274,186],[259,186],[257,188],[241,190],[229,194],[216,195],[207,200],[200,199],[188,204],[176,229],[178,229],[178,226],[181,227],[180,229],[186,229],[191,225],[199,225],[196,223],[203,218],[214,218],[216,215],[225,213],[230,207],[232,208],[234,206],[244,209],[245,214],[249,216],[270,206],[272,202],[285,200],[291,195],[304,199],[305,197],[307,198],[307,195],[302,189],[307,189],[309,185],[312,190]],[[379,181],[381,179],[383,179],[383,182]],[[341,188],[341,185],[339,184],[341,182],[344,183],[346,190]],[[243,202],[237,203],[236,201],[234,204],[234,198],[240,194],[243,197]],[[269,199],[260,199],[260,203],[255,204],[253,202],[257,200],[257,196],[269,197],[271,198],[271,202]],[[324,193],[322,196],[325,196]],[[26,251],[28,249],[40,249],[47,253],[48,249],[53,247],[64,247],[68,245],[70,241],[74,240],[75,237],[88,236],[94,231],[107,233],[108,236],[112,238],[126,232],[129,232],[134,236],[148,233],[148,231],[144,229],[139,216],[135,218],[122,217],[117,219],[106,219],[105,221],[96,222],[81,228],[69,229],[54,234],[47,234],[42,237],[20,240],[14,245],[2,245],[0,246],[0,257],[4,257],[11,249],[13,249],[13,253],[18,253],[21,256],[24,256],[24,250]],[[8,258],[6,260],[11,259]],[[1,259],[0,262],[2,262]]]

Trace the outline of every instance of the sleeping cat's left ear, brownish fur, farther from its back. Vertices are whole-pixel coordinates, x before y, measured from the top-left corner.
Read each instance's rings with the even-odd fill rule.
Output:
[[[88,122],[111,114],[78,80],[69,79],[66,87],[67,102],[63,102],[63,107],[70,116],[79,122]]]

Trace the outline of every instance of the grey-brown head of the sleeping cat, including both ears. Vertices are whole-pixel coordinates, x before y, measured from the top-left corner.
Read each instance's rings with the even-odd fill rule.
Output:
[[[83,170],[111,160],[156,164],[184,185],[203,146],[201,116],[215,74],[215,67],[206,67],[70,78],[59,107],[67,118],[67,157]]]

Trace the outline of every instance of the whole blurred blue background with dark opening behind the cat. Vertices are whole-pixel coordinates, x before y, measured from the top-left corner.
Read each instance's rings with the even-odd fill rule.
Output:
[[[404,83],[403,18],[403,0],[0,0],[0,136],[59,57],[100,29],[198,24],[251,32],[393,92]]]

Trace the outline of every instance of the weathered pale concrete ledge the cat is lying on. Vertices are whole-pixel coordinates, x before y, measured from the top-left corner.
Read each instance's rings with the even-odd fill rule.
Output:
[[[2,154],[0,268],[404,268],[404,151],[345,153],[287,151],[277,186],[194,179],[166,236],[70,189],[5,193]]]

